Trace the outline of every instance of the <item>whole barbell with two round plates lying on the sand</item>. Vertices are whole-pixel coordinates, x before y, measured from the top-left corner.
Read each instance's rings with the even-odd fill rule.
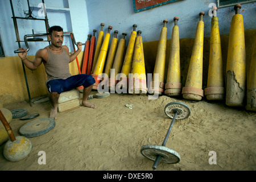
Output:
[[[172,119],[171,125],[167,131],[166,137],[162,143],[162,146],[147,144],[142,146],[141,154],[151,160],[155,160],[152,168],[156,169],[159,162],[167,164],[176,164],[180,162],[180,155],[171,148],[166,147],[167,140],[171,133],[172,126],[174,125],[175,119],[188,118],[191,110],[189,107],[182,102],[170,102],[164,107],[164,113]]]

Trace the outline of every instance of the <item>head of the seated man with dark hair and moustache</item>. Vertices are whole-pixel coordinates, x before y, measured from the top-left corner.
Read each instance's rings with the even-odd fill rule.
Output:
[[[52,26],[49,28],[49,35],[51,37],[52,45],[55,47],[61,47],[63,43],[63,28],[60,26]]]

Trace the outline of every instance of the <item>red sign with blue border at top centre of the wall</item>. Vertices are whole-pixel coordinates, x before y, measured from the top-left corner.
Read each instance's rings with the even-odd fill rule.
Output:
[[[179,0],[133,0],[134,13],[151,9],[153,7],[166,5]]]

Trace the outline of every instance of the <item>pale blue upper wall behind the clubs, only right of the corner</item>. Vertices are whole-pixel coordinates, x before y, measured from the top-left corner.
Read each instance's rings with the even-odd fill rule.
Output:
[[[137,24],[137,30],[142,31],[143,42],[159,40],[163,20],[167,19],[168,35],[171,39],[171,30],[174,26],[174,17],[179,17],[180,38],[195,38],[196,25],[199,21],[199,13],[204,11],[204,36],[210,36],[211,16],[209,11],[216,0],[181,0],[158,6],[149,10],[134,13],[132,0],[86,0],[88,10],[88,22],[90,32],[93,29],[100,31],[100,24],[105,23],[104,31],[108,26],[118,30],[118,38],[122,38],[122,32],[130,35],[133,24]],[[217,11],[220,22],[220,34],[229,34],[232,16],[235,14],[234,6],[221,7]],[[242,4],[241,14],[245,30],[256,28],[256,2]],[[114,31],[112,30],[112,37]],[[127,36],[127,40],[129,36]]]

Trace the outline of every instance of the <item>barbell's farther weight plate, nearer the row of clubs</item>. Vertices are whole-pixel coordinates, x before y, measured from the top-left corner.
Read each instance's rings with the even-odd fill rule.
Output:
[[[191,113],[189,107],[182,102],[170,102],[164,107],[164,113],[171,119],[174,118],[175,111],[178,111],[176,119],[185,119]]]

